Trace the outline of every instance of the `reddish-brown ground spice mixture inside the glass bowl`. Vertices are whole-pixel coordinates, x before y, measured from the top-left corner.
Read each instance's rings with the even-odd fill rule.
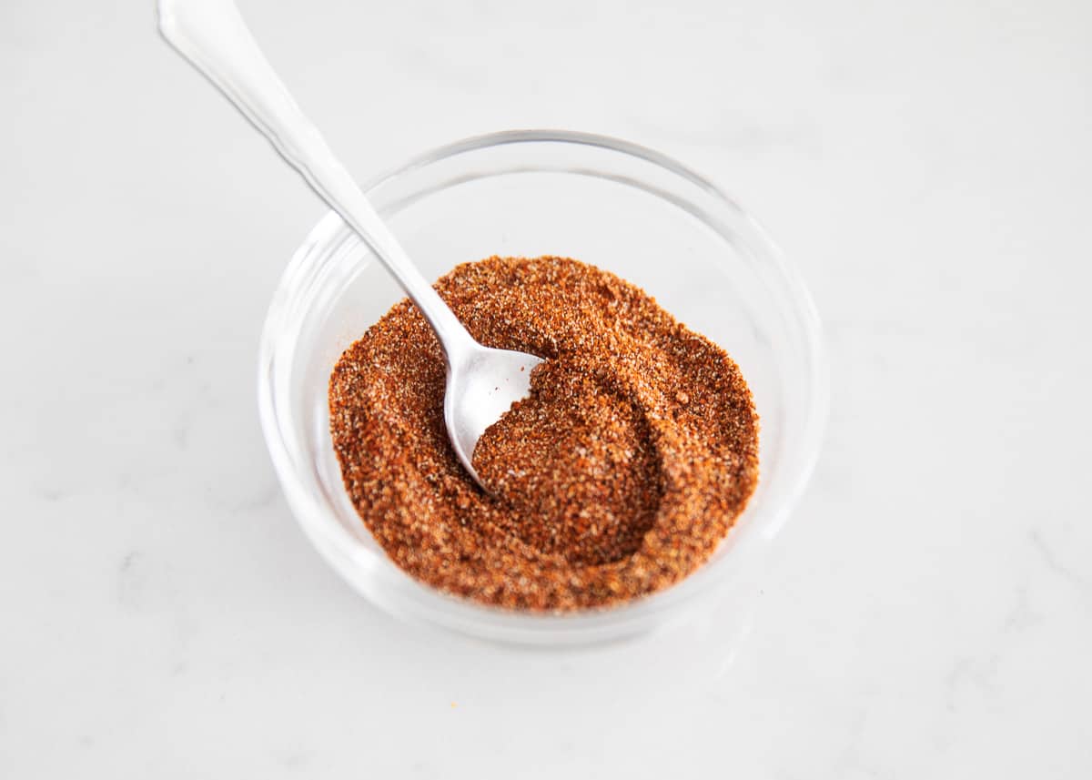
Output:
[[[330,424],[348,495],[400,567],[525,610],[604,606],[700,566],[758,480],[758,417],[725,352],[575,260],[489,258],[436,284],[475,339],[547,362],[455,459],[439,343],[407,300],[342,355]]]

